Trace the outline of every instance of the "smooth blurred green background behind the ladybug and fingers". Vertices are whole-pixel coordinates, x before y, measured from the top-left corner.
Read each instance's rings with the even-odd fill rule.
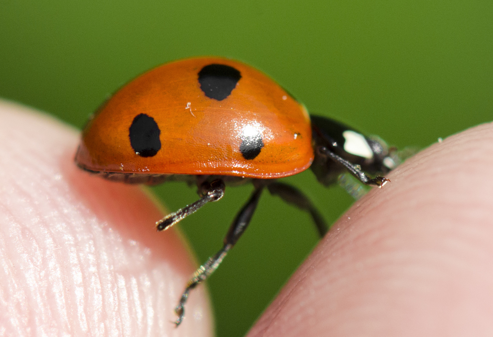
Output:
[[[221,55],[264,71],[310,112],[400,148],[491,121],[493,1],[0,1],[0,97],[81,128],[120,85],[171,60]],[[308,170],[286,178],[334,222],[352,203]],[[154,188],[170,210],[195,201]],[[180,227],[200,262],[251,187]],[[309,217],[264,194],[208,287],[219,337],[242,336],[317,244]],[[172,308],[170,308],[172,310]]]

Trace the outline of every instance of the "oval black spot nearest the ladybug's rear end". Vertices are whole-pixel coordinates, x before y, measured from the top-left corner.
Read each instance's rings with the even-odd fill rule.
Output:
[[[152,157],[161,149],[161,130],[154,118],[141,113],[134,118],[129,128],[130,144],[141,157]]]

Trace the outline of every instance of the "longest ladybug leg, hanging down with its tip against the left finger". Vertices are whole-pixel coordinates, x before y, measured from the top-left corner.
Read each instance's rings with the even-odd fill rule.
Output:
[[[205,281],[213,272],[217,269],[219,264],[222,262],[229,250],[233,248],[235,243],[238,241],[240,236],[242,236],[246,227],[250,223],[251,217],[255,208],[257,207],[258,200],[262,194],[263,186],[255,188],[250,199],[246,202],[245,206],[237,214],[235,220],[229,227],[228,233],[224,238],[224,246],[217,252],[214,256],[210,257],[209,260],[202,264],[197,271],[193,274],[193,277],[188,281],[185,291],[181,295],[180,301],[175,308],[176,315],[178,318],[175,321],[176,326],[180,325],[183,317],[185,316],[185,302],[188,299],[188,294],[192,289],[197,287],[200,283]]]

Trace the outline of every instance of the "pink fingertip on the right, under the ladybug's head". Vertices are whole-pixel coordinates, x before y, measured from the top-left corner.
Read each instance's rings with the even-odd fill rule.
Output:
[[[247,336],[492,336],[492,167],[492,123],[410,158],[333,225]]]

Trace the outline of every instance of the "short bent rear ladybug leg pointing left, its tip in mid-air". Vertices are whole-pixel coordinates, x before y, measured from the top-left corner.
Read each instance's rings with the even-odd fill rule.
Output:
[[[166,230],[183,218],[195,213],[210,201],[217,201],[224,195],[226,186],[221,179],[213,180],[211,183],[205,182],[199,187],[199,193],[201,198],[195,201],[193,204],[180,208],[176,212],[168,214],[163,219],[156,222],[157,230]]]

